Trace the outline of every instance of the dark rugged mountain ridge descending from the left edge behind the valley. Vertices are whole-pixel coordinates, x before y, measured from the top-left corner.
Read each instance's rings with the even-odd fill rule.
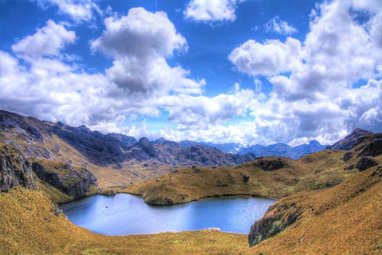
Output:
[[[118,133],[105,135],[99,131],[91,131],[84,125],[71,127],[62,122],[44,122],[0,110],[0,138],[2,136],[14,137],[16,142],[27,144],[32,144],[31,141],[39,141],[38,146],[26,146],[25,151],[28,156],[37,158],[43,156],[48,159],[51,159],[55,153],[48,148],[45,141],[55,140],[57,136],[90,162],[102,167],[114,164],[118,169],[126,164],[130,166],[139,164],[144,167],[236,166],[255,158],[253,154],[226,153],[202,144],[181,146],[175,141],[164,138],[149,141],[142,137],[137,141],[132,136]],[[8,143],[14,142],[8,141]],[[55,158],[61,157],[61,153],[58,152],[60,143],[58,142],[55,147],[57,147],[57,149],[54,148],[57,152]]]

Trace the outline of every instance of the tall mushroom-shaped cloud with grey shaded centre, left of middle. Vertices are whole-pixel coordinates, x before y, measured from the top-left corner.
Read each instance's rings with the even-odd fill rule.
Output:
[[[170,67],[166,61],[176,51],[187,50],[186,39],[162,11],[132,8],[128,15],[109,17],[102,36],[91,42],[114,59],[107,76],[127,93],[159,96],[169,91],[200,94],[204,80],[187,78],[189,70]]]

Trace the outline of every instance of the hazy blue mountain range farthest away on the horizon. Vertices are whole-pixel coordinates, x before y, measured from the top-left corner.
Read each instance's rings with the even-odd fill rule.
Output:
[[[195,141],[180,141],[181,146],[189,145],[205,145],[212,148],[221,149],[222,151],[229,153],[254,153],[257,157],[260,156],[282,156],[292,159],[298,159],[303,155],[310,154],[316,151],[321,151],[327,147],[327,145],[321,145],[318,141],[312,140],[309,144],[302,144],[295,147],[286,145],[284,143],[276,143],[273,145],[253,145],[250,147],[241,147],[238,143],[210,143],[210,142],[195,142]]]

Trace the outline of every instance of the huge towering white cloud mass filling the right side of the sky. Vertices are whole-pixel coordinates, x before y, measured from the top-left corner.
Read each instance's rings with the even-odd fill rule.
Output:
[[[368,11],[369,20],[356,22],[357,11]],[[307,138],[331,143],[356,127],[380,132],[380,15],[379,1],[324,2],[312,10],[304,42],[249,40],[231,52],[228,58],[239,71],[273,84],[269,100],[250,108],[264,123],[257,128],[262,136],[271,133],[290,144]],[[366,85],[355,86],[364,80]],[[270,128],[275,123],[281,130]]]

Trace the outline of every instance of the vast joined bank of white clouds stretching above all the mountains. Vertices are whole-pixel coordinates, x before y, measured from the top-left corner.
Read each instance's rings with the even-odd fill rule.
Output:
[[[52,40],[49,50],[37,53],[16,47],[23,40],[32,45],[40,29],[34,39],[16,42],[15,55],[0,51],[0,104],[40,119],[176,141],[297,145],[317,139],[330,144],[356,127],[380,132],[381,8],[372,0],[324,2],[312,11],[304,41],[243,42],[228,59],[252,77],[254,89],[236,84],[212,97],[202,94],[204,80],[167,63],[174,54],[186,54],[188,45],[165,13],[134,8],[126,16],[107,18],[105,31],[91,46],[113,64],[95,74],[61,61],[65,45],[74,41]],[[368,20],[354,20],[365,11]],[[261,93],[264,80],[273,84],[269,94]],[[144,121],[126,126],[129,116],[167,114],[171,128],[153,131]]]

